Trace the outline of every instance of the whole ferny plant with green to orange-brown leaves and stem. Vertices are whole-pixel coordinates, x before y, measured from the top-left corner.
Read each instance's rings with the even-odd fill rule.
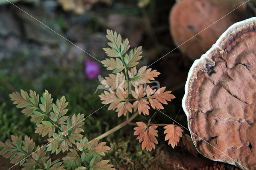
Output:
[[[110,147],[106,146],[106,142],[98,141],[128,124],[136,125],[134,135],[138,135],[137,139],[142,142],[142,150],[146,148],[151,151],[155,144],[158,144],[156,128],[159,126],[164,126],[165,140],[169,140],[168,144],[171,144],[172,148],[177,145],[184,130],[174,123],[152,124],[151,119],[156,112],[147,123],[131,122],[141,113],[149,115],[150,106],[152,109],[164,109],[162,104],[168,104],[167,101],[174,99],[174,95],[171,91],[165,91],[165,87],[150,88],[148,83],[160,74],[156,70],[144,66],[137,71],[136,65],[142,57],[142,47],[131,49],[128,53],[130,45],[127,39],[122,41],[121,36],[111,30],[107,30],[106,37],[110,40],[110,48],[104,48],[104,51],[112,58],[102,63],[108,70],[113,70],[113,73],[101,81],[106,90],[99,96],[103,104],[110,104],[109,110],[116,109],[118,117],[124,115],[126,121],[88,140],[81,128],[87,117],[80,113],[72,117],[66,116],[68,102],[65,96],[52,103],[52,95],[47,90],[41,97],[35,91],[20,90],[20,93],[10,94],[11,100],[16,107],[23,108],[21,112],[24,115],[31,117],[30,121],[36,124],[35,133],[42,137],[46,136],[48,143],[36,146],[28,136],[22,140],[21,136],[11,135],[11,140],[0,142],[0,155],[10,158],[12,164],[24,166],[23,170],[112,170],[114,168],[108,164],[109,160],[102,160],[102,156]],[[133,113],[131,117],[129,112]],[[188,138],[184,137],[182,140],[184,145],[192,150],[192,141]],[[61,151],[65,156],[56,160],[46,155],[47,152],[59,154]]]

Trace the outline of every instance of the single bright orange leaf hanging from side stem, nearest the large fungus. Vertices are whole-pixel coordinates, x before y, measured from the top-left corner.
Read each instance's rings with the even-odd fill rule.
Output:
[[[180,141],[184,130],[176,125],[166,125],[164,128],[164,134],[166,134],[164,141],[169,140],[168,144],[171,144],[174,148]]]

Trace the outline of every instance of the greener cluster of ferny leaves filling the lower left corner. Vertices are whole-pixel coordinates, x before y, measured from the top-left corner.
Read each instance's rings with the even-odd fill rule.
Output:
[[[51,94],[46,90],[42,97],[30,90],[29,94],[21,90],[20,93],[14,92],[10,95],[14,104],[18,108],[24,108],[22,113],[30,116],[31,121],[36,123],[35,133],[42,137],[48,136],[48,144],[35,146],[30,137],[25,136],[22,140],[21,136],[12,135],[12,141],[6,140],[5,143],[0,142],[0,154],[5,158],[10,158],[11,163],[24,166],[24,170],[30,169],[114,169],[108,164],[108,160],[101,160],[110,148],[105,146],[106,142],[98,143],[97,139],[88,140],[82,135],[84,132],[84,114],[73,115],[71,118],[65,116],[67,113],[67,105],[65,96],[57,99],[53,104]],[[40,102],[39,102],[40,101]],[[62,161],[51,161],[46,152],[60,151],[67,152]]]

